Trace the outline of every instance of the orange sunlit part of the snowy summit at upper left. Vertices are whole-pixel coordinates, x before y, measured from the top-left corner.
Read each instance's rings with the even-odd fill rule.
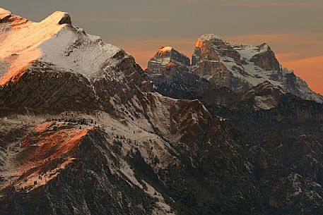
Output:
[[[65,27],[61,24],[71,23],[64,12],[55,12],[34,23],[1,8],[0,18],[1,23],[6,23],[0,35],[0,63],[6,65],[0,68],[0,85],[18,78],[33,61],[40,59],[45,52],[40,46]]]

